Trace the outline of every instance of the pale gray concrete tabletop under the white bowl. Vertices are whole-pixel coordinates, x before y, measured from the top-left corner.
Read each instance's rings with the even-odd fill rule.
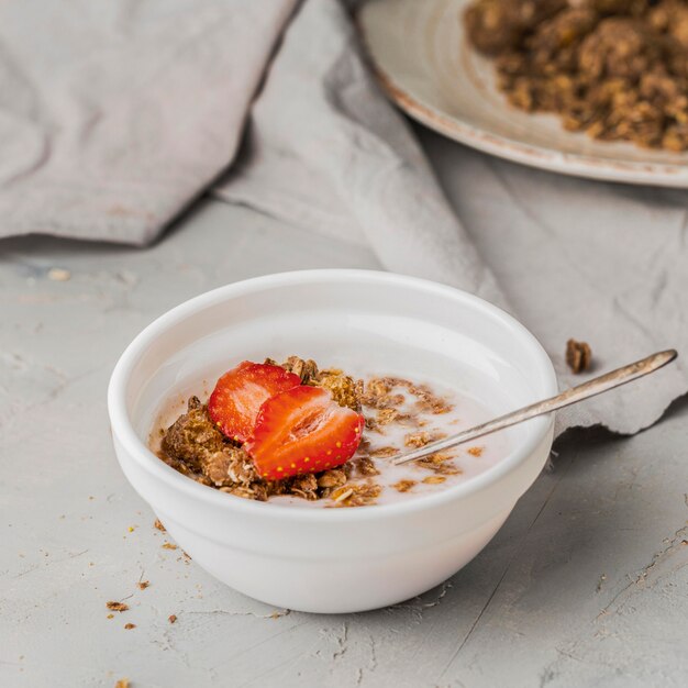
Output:
[[[390,609],[275,610],[163,547],[110,444],[116,357],[201,291],[326,266],[378,265],[214,201],[146,251],[0,242],[0,686],[687,685],[686,401],[632,439],[565,436],[471,564]]]

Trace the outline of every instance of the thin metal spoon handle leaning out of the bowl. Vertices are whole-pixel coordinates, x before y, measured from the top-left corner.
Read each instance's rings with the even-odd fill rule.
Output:
[[[563,409],[572,403],[578,403],[584,399],[601,395],[602,392],[613,389],[614,387],[625,385],[626,382],[635,380],[639,377],[654,373],[655,370],[664,367],[667,363],[672,363],[676,356],[678,356],[678,353],[673,348],[653,354],[642,360],[636,360],[635,363],[623,366],[622,368],[617,368],[611,373],[595,377],[582,385],[572,387],[556,397],[551,397],[550,399],[531,403],[530,406],[512,411],[511,413],[507,413],[506,415],[500,415],[499,418],[488,421],[487,423],[476,425],[469,430],[464,430],[463,432],[450,435],[444,440],[431,442],[419,450],[407,452],[406,454],[399,454],[391,459],[391,463],[395,465],[406,464],[407,462],[428,456],[429,454],[434,454],[435,452],[441,452],[442,450],[446,450],[451,446],[456,446],[457,444],[463,444],[464,442],[470,442],[470,440],[476,440],[477,437],[488,435],[492,432],[497,432],[498,430],[510,428],[517,423],[522,423],[523,421],[535,418],[536,415],[552,413],[552,411],[557,411],[558,409]]]

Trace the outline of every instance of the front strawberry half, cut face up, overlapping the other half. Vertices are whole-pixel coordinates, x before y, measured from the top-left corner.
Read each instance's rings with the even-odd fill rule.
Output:
[[[334,468],[360,443],[363,415],[322,387],[301,385],[268,399],[244,448],[267,480]]]

